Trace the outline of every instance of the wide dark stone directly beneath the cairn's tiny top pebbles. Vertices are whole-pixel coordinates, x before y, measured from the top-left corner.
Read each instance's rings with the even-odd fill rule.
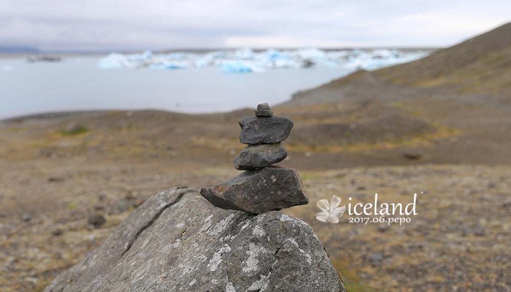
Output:
[[[286,140],[293,128],[293,121],[280,116],[246,116],[239,120],[240,142],[267,144]]]

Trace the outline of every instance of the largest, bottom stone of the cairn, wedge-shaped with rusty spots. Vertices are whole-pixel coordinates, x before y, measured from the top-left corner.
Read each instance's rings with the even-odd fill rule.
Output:
[[[263,213],[296,205],[307,205],[307,192],[296,169],[268,166],[245,171],[200,194],[222,209]]]

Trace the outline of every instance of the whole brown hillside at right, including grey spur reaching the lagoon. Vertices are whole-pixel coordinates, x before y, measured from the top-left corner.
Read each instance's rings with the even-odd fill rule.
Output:
[[[297,92],[285,106],[350,99],[402,101],[426,95],[483,93],[511,101],[511,23],[424,59],[373,72],[360,70],[315,89]],[[449,96],[451,98],[452,96]],[[459,96],[456,96],[459,97]],[[465,98],[467,99],[467,98]]]

